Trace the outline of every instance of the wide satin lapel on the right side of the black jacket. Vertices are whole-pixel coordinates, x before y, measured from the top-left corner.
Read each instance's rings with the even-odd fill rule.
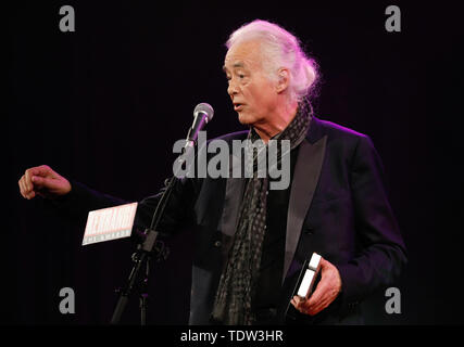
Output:
[[[299,149],[287,215],[283,282],[297,250],[303,221],[313,201],[324,162],[326,142],[327,136],[314,144],[304,140]]]

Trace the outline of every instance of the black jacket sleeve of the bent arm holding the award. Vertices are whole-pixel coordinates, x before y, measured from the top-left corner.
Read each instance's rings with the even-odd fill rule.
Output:
[[[343,303],[358,304],[391,285],[406,264],[406,252],[388,202],[380,158],[368,137],[360,137],[351,164],[356,255],[338,265]]]

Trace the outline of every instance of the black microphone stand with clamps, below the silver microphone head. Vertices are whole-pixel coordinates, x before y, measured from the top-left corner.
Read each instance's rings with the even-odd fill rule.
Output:
[[[150,228],[146,229],[143,232],[145,241],[143,243],[137,246],[137,252],[133,254],[131,260],[134,262],[133,269],[130,271],[129,278],[127,279],[127,284],[124,288],[118,290],[120,298],[117,300],[116,307],[114,309],[113,316],[111,318],[111,324],[118,324],[121,321],[121,317],[127,306],[129,297],[136,286],[136,281],[139,278],[139,272],[142,266],[145,265],[145,279],[139,284],[139,293],[140,293],[140,324],[147,324],[147,307],[148,307],[148,278],[150,273],[150,259],[153,254],[155,254],[156,259],[166,258],[166,250],[164,249],[164,245],[161,245],[161,249],[155,247],[158,232],[155,231],[158,224],[164,214],[164,209],[167,206],[171,194],[176,187],[179,180],[173,176],[170,179],[170,182],[166,187],[166,190],[163,192],[160,201],[158,202],[156,208],[153,214],[153,218],[151,220]]]

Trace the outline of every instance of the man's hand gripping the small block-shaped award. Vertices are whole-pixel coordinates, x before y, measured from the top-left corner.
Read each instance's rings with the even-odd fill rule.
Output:
[[[301,313],[314,316],[329,306],[341,291],[341,279],[338,269],[321,258],[321,281],[309,299],[293,296],[291,304]]]

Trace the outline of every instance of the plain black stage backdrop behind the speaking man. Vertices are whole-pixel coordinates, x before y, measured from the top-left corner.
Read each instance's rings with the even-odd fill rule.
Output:
[[[59,10],[75,10],[61,33]],[[387,33],[385,9],[401,9]],[[401,313],[384,292],[364,304],[371,324],[442,324],[462,319],[462,62],[459,12],[372,1],[35,1],[10,7],[7,46],[7,197],[1,314],[5,324],[105,324],[130,269],[127,240],[80,246],[71,224],[17,180],[48,164],[67,178],[129,201],[172,175],[174,142],[208,102],[209,138],[241,130],[222,72],[228,35],[254,18],[300,37],[321,66],[316,115],[372,137],[409,249],[398,282]],[[151,277],[150,324],[188,321],[192,235],[171,243]],[[76,313],[61,314],[72,287]],[[124,321],[138,323],[138,300]]]

